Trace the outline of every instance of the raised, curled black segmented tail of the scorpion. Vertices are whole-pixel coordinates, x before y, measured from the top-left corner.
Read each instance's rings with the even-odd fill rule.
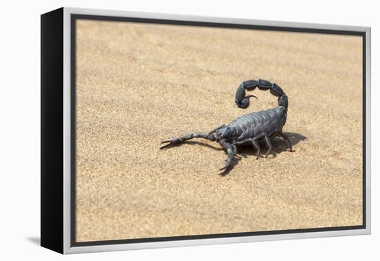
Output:
[[[285,95],[283,89],[277,84],[272,84],[270,81],[263,79],[258,80],[248,80],[243,81],[238,90],[236,90],[235,103],[239,108],[248,108],[249,98],[255,97],[254,95],[245,96],[246,90],[254,90],[258,88],[259,90],[270,90],[272,95],[278,97],[278,106],[283,106],[287,110],[287,96]]]

